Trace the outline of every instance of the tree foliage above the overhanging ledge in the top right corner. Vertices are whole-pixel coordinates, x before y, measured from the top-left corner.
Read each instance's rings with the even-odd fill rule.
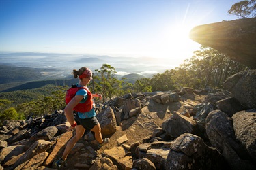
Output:
[[[238,18],[253,18],[256,17],[256,1],[240,1],[231,6],[228,11],[231,15],[236,15]]]

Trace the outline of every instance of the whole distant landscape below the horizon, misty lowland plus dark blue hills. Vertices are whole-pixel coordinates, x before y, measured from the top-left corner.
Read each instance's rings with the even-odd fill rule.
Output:
[[[167,65],[169,61],[150,57],[20,52],[1,53],[0,60],[0,92],[24,89],[25,86],[31,88],[30,82],[56,84],[56,81],[70,80],[73,78],[72,70],[80,67],[89,67],[94,71],[103,64],[109,64],[117,71],[117,78],[126,78],[131,83],[171,69]]]

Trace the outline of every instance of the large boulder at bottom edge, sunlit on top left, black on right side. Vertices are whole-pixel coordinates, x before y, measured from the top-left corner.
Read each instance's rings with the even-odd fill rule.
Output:
[[[223,156],[200,137],[184,133],[171,143],[166,169],[229,169]]]

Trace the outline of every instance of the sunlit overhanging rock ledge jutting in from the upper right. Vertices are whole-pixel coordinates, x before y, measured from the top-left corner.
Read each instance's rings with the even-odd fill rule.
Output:
[[[190,31],[190,39],[256,69],[256,18],[200,25]]]

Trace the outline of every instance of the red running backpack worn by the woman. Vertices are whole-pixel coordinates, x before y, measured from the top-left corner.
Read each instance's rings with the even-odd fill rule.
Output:
[[[72,84],[71,88],[69,88],[66,92],[66,97],[65,97],[66,104],[68,105],[68,103],[70,103],[70,101],[76,95],[76,92],[80,89],[85,89],[87,91],[87,100],[85,101],[85,103],[78,103],[73,108],[73,110],[75,110],[77,112],[89,112],[92,109],[94,102],[92,101],[91,92],[85,86],[78,87],[78,86]]]

